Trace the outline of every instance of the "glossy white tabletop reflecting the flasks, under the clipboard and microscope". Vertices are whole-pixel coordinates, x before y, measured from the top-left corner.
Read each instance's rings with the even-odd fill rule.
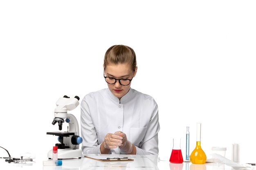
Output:
[[[49,160],[34,159],[36,163],[18,164],[0,159],[0,167],[1,170],[232,170],[223,163],[170,163],[168,160],[160,161],[157,155],[106,155],[113,156],[129,157],[134,161],[101,162],[83,157],[63,160],[62,166],[43,166],[43,161]]]

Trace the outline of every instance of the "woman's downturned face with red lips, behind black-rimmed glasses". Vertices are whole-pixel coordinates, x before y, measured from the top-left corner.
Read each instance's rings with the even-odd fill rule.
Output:
[[[135,77],[137,68],[135,69],[133,77]],[[132,79],[133,70],[130,64],[108,64],[105,68],[105,76],[116,79]],[[117,81],[115,84],[108,84],[110,91],[119,99],[128,93],[132,81],[129,85],[123,86]]]

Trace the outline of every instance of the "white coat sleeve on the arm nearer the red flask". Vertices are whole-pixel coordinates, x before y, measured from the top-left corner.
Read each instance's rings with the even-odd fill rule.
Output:
[[[158,155],[158,132],[160,130],[158,119],[158,106],[153,100],[153,112],[151,115],[146,134],[142,140],[141,148],[136,146],[137,155]]]

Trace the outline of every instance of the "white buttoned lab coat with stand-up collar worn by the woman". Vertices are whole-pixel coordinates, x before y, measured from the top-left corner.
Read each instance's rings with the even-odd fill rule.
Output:
[[[122,131],[136,146],[137,155],[158,155],[159,129],[155,100],[132,88],[120,101],[105,88],[85,95],[81,102],[84,154],[101,154],[100,146],[106,134]],[[115,148],[110,149],[110,154],[122,153]]]

